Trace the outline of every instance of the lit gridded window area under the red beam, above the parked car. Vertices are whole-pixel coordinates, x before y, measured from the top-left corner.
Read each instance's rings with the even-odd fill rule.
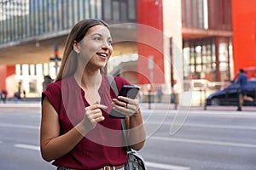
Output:
[[[233,69],[231,43],[229,38],[183,41],[184,78],[207,79],[211,82],[230,81],[233,77],[230,73]]]

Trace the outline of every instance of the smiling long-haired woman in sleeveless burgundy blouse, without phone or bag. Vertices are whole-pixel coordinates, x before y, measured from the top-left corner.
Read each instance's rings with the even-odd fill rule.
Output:
[[[113,52],[108,25],[102,20],[81,20],[67,37],[55,82],[42,94],[41,154],[57,169],[124,169],[120,119],[126,118],[131,148],[141,150],[146,133],[138,99],[116,98],[102,72]],[[129,85],[114,77],[117,88]]]

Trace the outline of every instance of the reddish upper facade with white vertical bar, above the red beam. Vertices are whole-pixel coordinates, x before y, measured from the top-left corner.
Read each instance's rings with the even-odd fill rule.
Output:
[[[182,0],[183,27],[232,30],[231,5],[231,0]]]

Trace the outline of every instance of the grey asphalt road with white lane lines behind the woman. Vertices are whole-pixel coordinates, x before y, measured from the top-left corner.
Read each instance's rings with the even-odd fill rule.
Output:
[[[223,109],[223,108],[222,108]],[[254,109],[254,108],[253,108]],[[148,170],[253,170],[256,111],[142,105]],[[40,105],[0,105],[0,169],[55,169],[39,151]]]

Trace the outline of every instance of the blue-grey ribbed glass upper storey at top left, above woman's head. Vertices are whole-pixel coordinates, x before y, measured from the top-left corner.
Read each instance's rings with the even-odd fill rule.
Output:
[[[136,0],[0,0],[0,44],[68,30],[89,18],[136,22]]]

